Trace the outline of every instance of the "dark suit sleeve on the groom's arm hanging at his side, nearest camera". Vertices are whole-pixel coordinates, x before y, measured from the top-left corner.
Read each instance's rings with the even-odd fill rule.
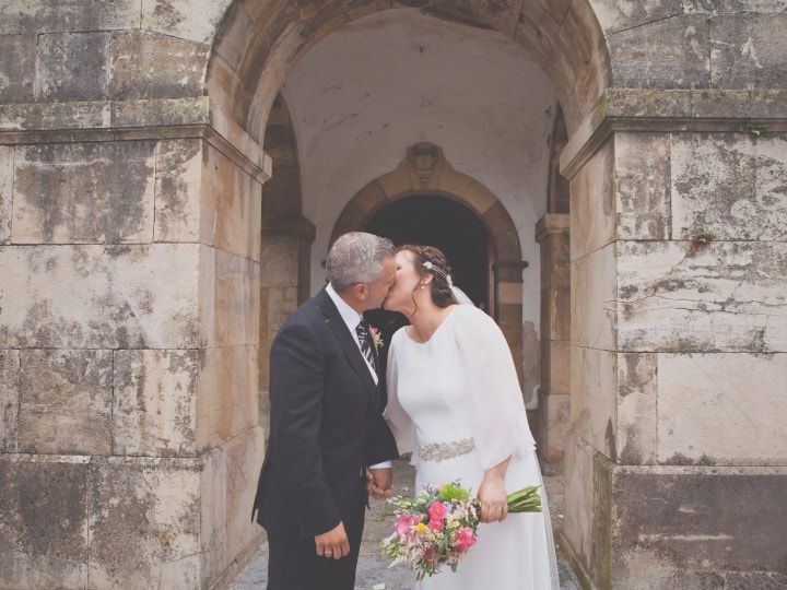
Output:
[[[341,518],[322,471],[319,442],[325,358],[315,334],[286,324],[271,349],[270,444],[281,461],[281,485],[295,500],[309,535],[336,528]]]

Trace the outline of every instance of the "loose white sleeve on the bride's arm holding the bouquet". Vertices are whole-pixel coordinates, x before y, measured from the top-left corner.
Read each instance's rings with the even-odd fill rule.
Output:
[[[492,318],[478,308],[454,311],[457,346],[467,371],[467,403],[481,467],[489,470],[535,440],[508,343]]]

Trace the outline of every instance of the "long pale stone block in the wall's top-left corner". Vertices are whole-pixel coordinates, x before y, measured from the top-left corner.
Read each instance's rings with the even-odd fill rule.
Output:
[[[0,5],[0,32],[68,33],[137,28],[139,0],[7,0]]]

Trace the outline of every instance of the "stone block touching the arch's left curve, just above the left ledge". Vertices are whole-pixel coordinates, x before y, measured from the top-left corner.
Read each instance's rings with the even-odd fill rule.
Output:
[[[157,33],[115,33],[109,97],[183,98],[202,94],[210,48]]]

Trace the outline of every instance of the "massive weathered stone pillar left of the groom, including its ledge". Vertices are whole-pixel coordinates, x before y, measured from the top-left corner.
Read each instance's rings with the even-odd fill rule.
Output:
[[[208,98],[0,108],[0,587],[254,551],[261,184]]]

